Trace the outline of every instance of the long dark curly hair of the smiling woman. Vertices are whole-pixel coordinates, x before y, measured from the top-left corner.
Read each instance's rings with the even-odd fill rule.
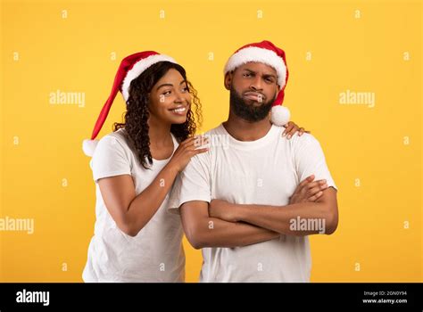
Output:
[[[192,96],[189,110],[187,111],[187,121],[183,124],[172,124],[170,132],[175,135],[178,143],[195,135],[197,127],[202,123],[201,102],[197,97],[197,91],[187,80],[187,73],[184,68],[173,62],[157,62],[143,71],[141,75],[131,81],[129,86],[129,99],[127,101],[127,111],[124,113],[124,122],[115,122],[113,131],[124,127],[130,143],[133,145],[137,158],[144,168],[153,164],[153,157],[150,152],[150,137],[148,136],[148,111],[149,93],[153,86],[170,69],[178,70],[180,75],[187,81],[188,92]],[[194,104],[195,113],[192,111]],[[195,123],[196,118],[196,123]]]

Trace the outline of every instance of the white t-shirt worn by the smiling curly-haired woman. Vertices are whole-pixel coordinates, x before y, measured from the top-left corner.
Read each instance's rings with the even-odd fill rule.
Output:
[[[169,194],[135,237],[120,231],[104,205],[98,179],[130,175],[139,194],[170,160],[153,160],[151,169],[143,168],[130,149],[124,131],[119,129],[105,135],[97,144],[90,163],[95,180],[96,220],[82,278],[85,282],[183,282],[183,229],[179,216],[166,209]],[[172,138],[175,151],[178,142],[173,135]]]

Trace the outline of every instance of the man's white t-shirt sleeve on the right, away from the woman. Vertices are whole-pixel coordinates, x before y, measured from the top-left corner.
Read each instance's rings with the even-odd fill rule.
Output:
[[[298,139],[300,144],[295,144],[294,164],[300,179],[299,183],[303,182],[306,177],[314,175],[315,181],[326,179],[328,187],[332,186],[337,189],[319,141],[308,134],[304,134]]]

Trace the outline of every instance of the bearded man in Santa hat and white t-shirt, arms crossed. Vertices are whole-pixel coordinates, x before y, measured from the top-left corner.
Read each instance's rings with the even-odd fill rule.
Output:
[[[289,115],[280,106],[287,77],[285,53],[269,41],[237,50],[225,67],[228,120],[207,133],[210,151],[175,182],[170,209],[203,249],[202,282],[309,282],[307,235],[336,230],[336,185],[319,142],[309,134],[286,140],[275,125]],[[297,200],[310,177],[323,184]]]

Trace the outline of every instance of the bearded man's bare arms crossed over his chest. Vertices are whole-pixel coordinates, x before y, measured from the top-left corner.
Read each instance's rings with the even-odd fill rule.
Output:
[[[317,230],[292,230],[292,220],[319,219],[324,233],[332,234],[337,226],[336,190],[326,181],[308,177],[298,185],[289,205],[232,204],[213,200],[187,201],[180,207],[182,225],[195,249],[204,247],[240,247],[277,238],[280,234],[309,235]],[[293,200],[294,199],[294,200]]]

